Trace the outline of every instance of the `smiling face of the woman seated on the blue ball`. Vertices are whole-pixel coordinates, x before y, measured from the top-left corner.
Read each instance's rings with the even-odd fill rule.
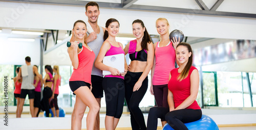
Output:
[[[179,64],[187,63],[188,58],[191,56],[191,52],[188,52],[187,47],[178,46],[176,48],[176,60]]]

